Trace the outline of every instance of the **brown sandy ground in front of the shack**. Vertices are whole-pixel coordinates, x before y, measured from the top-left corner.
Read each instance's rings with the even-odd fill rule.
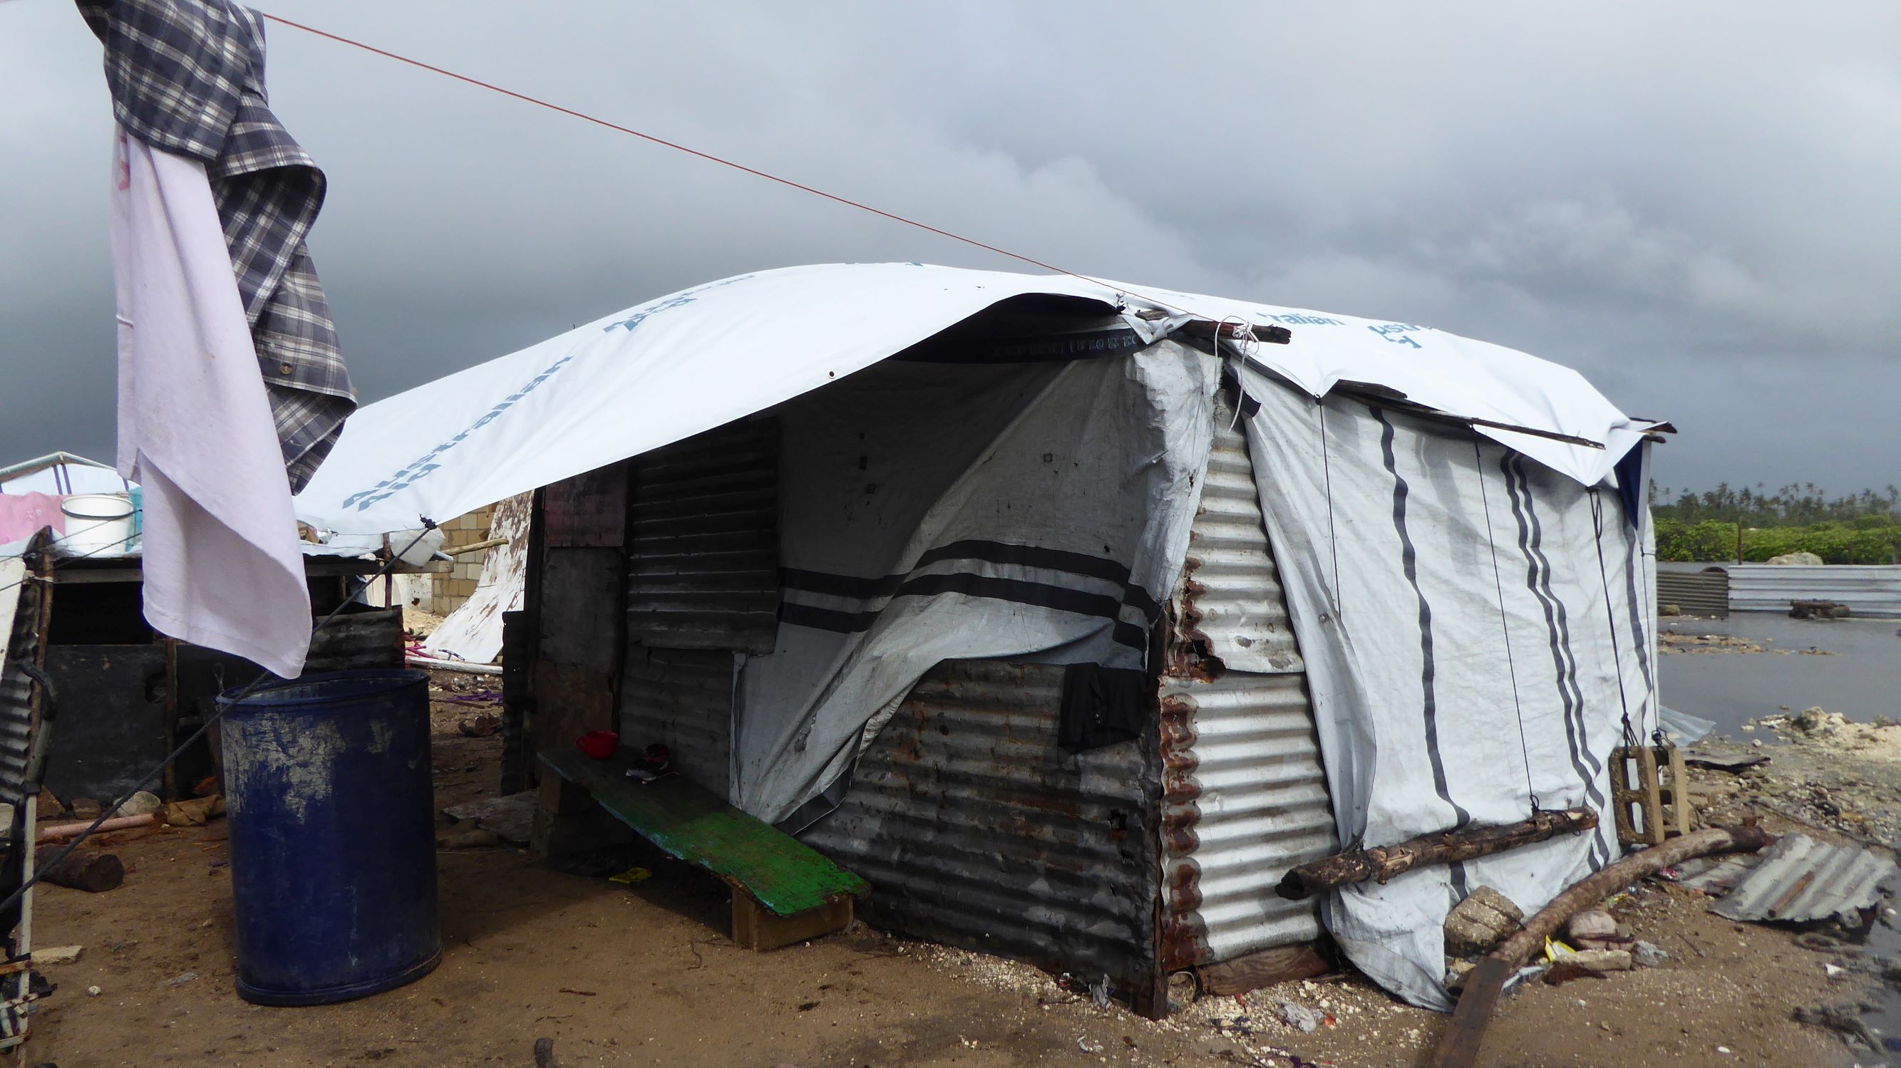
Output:
[[[500,741],[456,732],[477,711],[437,705],[443,806],[492,794]],[[1713,773],[1699,789],[1722,792],[1717,777],[1734,779]],[[445,956],[430,977],[344,1005],[255,1007],[232,986],[222,821],[110,848],[125,886],[38,897],[36,943],[86,952],[46,969],[59,988],[34,1017],[25,1064],[528,1066],[534,1039],[553,1038],[565,1068],[1414,1066],[1445,1026],[1346,975],[1201,998],[1152,1022],[1030,967],[867,927],[753,954],[724,937],[724,889],[698,870],[643,857],[654,876],[620,886],[506,846],[439,853]],[[1853,982],[1831,982],[1825,958],[1791,933],[1720,920],[1675,886],[1637,887],[1614,910],[1669,960],[1527,984],[1502,1001],[1481,1064],[1855,1060],[1833,1034],[1789,1019],[1793,1005],[1852,996]],[[1331,1022],[1296,1032],[1279,1020],[1283,1000]]]

